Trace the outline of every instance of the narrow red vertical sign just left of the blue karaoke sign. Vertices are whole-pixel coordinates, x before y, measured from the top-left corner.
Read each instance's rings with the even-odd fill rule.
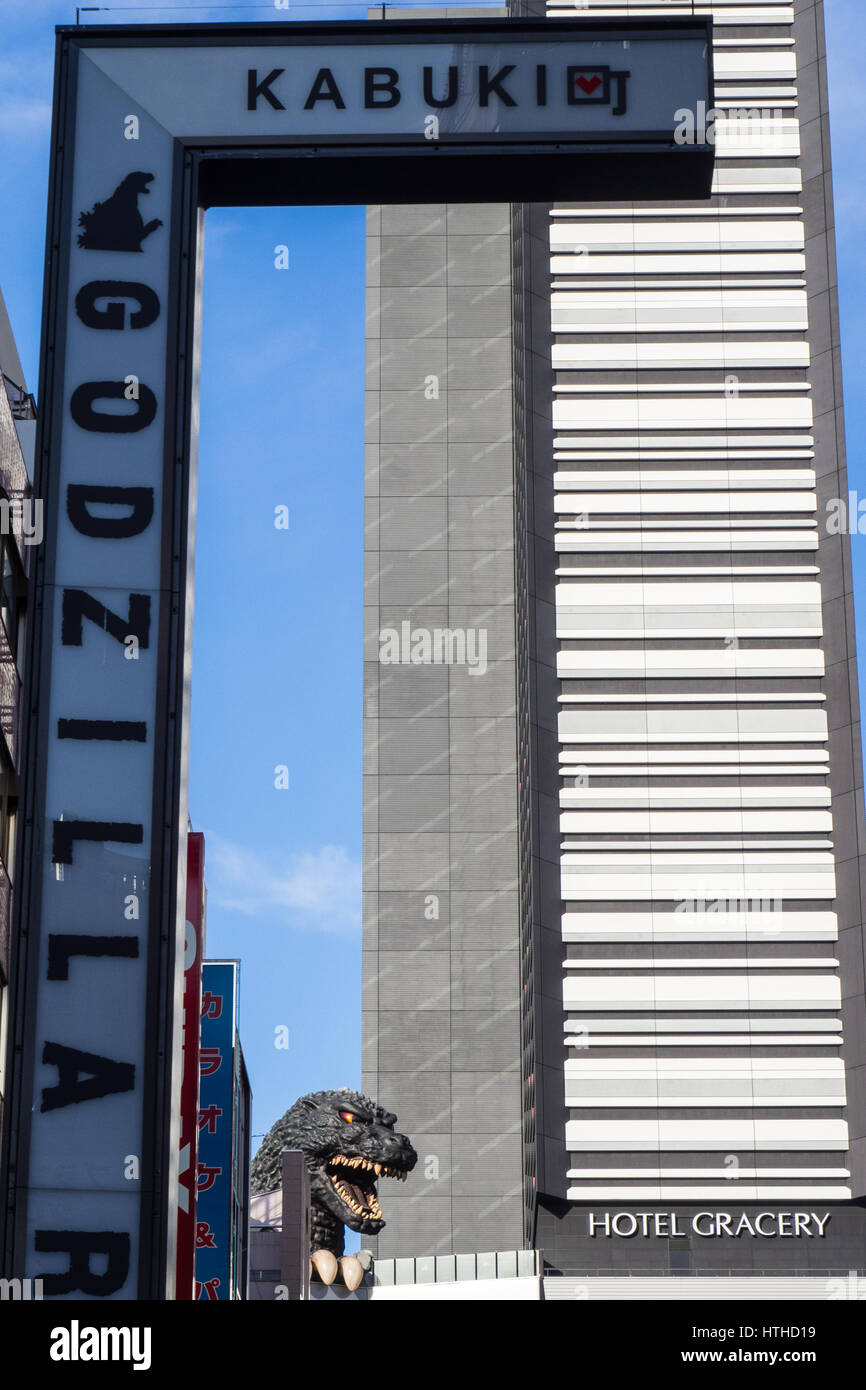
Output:
[[[186,837],[186,940],[183,948],[183,1072],[178,1191],[177,1298],[192,1300],[196,1277],[196,1161],[199,1156],[199,1045],[204,956],[204,835]]]

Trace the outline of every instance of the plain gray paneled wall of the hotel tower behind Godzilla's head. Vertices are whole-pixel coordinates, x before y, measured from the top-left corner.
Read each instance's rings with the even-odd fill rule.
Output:
[[[523,1234],[510,253],[503,204],[368,210],[363,1086],[420,1156],[382,1257]]]

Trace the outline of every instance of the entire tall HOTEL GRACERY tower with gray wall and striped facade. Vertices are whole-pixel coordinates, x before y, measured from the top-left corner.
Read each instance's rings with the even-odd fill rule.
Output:
[[[546,14],[712,14],[717,165],[370,210],[364,1086],[420,1154],[379,1254],[863,1269],[822,3]]]

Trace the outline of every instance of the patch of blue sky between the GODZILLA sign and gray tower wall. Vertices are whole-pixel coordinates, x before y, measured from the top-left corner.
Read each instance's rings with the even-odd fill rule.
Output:
[[[214,208],[204,246],[190,815],[261,1131],[360,1084],[364,208]]]

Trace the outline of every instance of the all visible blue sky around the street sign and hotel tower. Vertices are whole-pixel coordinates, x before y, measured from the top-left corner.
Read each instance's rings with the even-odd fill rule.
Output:
[[[291,11],[122,6],[95,18],[364,13],[292,0]],[[74,18],[72,4],[0,0],[0,285],[31,389],[53,26]],[[866,495],[866,3],[827,0],[826,21],[849,478]],[[243,962],[254,1131],[304,1090],[360,1081],[363,222],[359,207],[207,214],[190,810],[207,837],[209,954]],[[277,506],[288,531],[274,527]],[[852,538],[863,689],[865,545]],[[274,1047],[281,1024],[288,1051]]]

